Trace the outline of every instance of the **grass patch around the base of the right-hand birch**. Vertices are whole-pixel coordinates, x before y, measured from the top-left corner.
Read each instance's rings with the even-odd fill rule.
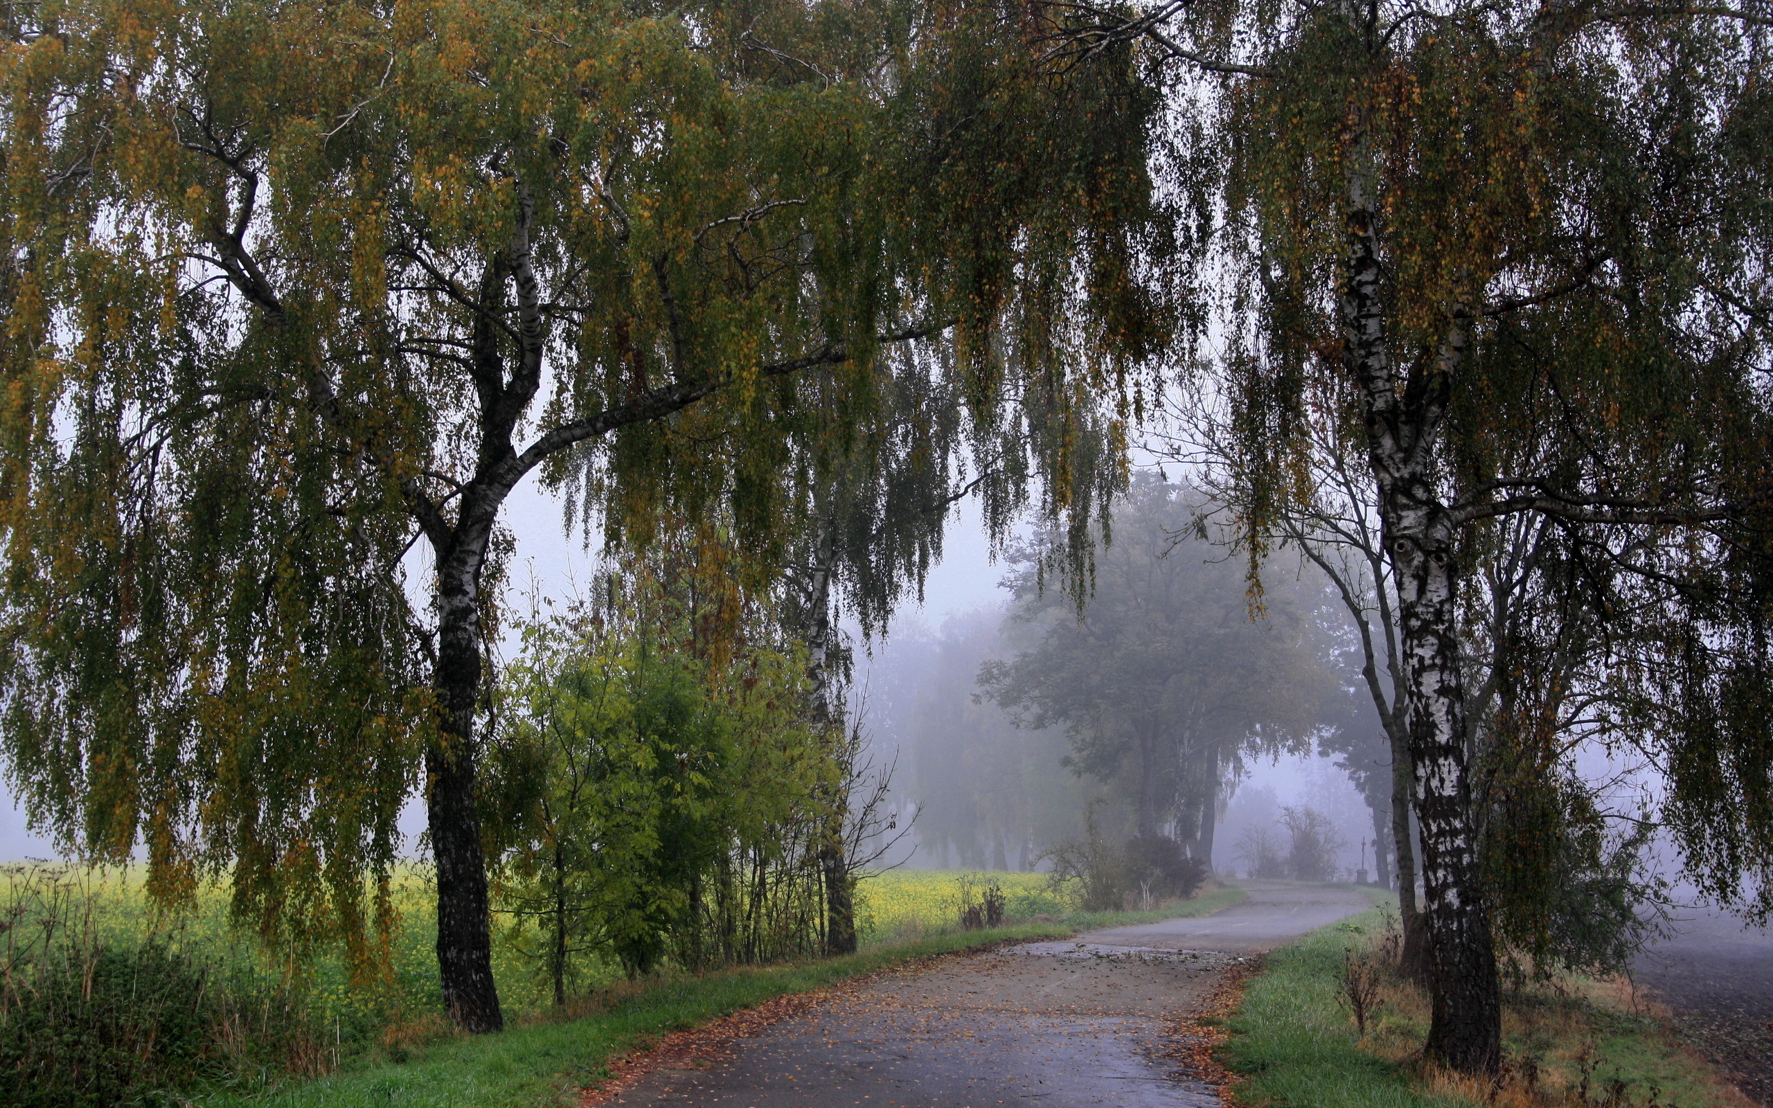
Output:
[[[1371,892],[1371,890],[1369,890]],[[1374,897],[1381,901],[1381,897]],[[1427,996],[1386,961],[1395,899],[1264,959],[1225,1021],[1236,1099],[1273,1108],[1746,1108],[1624,982],[1560,977],[1504,995],[1502,1081],[1420,1062]],[[1349,959],[1376,979],[1360,1037],[1342,1000]]]

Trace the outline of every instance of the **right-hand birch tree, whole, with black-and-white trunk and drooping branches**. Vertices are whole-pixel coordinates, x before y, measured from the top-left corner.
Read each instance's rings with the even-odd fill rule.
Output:
[[[1225,342],[1202,371],[1238,427],[1254,539],[1308,495],[1310,383],[1356,394],[1397,594],[1427,1053],[1495,1071],[1461,667],[1473,528],[1553,519],[1628,571],[1654,631],[1628,672],[1667,727],[1665,817],[1709,888],[1768,888],[1769,734],[1741,711],[1773,672],[1768,12],[1060,7],[1053,64],[1136,39],[1175,74],[1197,151],[1175,188],[1223,213]]]

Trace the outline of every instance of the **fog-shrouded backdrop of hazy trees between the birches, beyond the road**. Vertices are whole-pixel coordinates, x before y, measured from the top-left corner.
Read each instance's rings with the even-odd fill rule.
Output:
[[[1032,535],[1004,601],[881,644],[858,693],[901,755],[908,863],[1048,869],[1094,810],[1106,840],[1223,874],[1390,883],[1390,761],[1346,619],[1278,558],[1252,590],[1213,509],[1142,475],[1082,608]]]

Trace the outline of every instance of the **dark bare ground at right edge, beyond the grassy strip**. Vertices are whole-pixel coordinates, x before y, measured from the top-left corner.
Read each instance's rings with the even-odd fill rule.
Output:
[[[1773,1108],[1773,932],[1714,909],[1677,913],[1677,934],[1633,973],[1675,1016],[1681,1035]]]

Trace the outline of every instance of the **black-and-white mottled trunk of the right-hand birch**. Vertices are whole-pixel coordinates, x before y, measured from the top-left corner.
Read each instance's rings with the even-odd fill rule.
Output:
[[[1502,995],[1477,874],[1466,780],[1452,525],[1434,495],[1436,436],[1463,356],[1457,326],[1433,367],[1401,379],[1385,333],[1383,268],[1367,122],[1353,119],[1347,174],[1344,356],[1362,394],[1379,519],[1397,587],[1406,732],[1422,828],[1433,1023],[1427,1057],[1461,1073],[1502,1065]]]

